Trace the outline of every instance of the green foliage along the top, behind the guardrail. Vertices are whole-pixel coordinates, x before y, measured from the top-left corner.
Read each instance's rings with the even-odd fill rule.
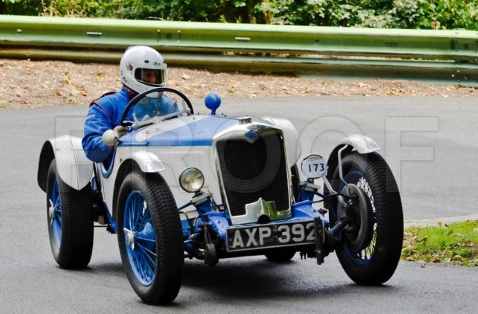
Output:
[[[0,0],[0,13],[478,30],[478,0]]]

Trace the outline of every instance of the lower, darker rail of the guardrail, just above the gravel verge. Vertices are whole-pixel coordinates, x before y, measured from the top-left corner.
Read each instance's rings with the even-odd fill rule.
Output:
[[[122,51],[0,49],[0,57],[119,63]],[[300,73],[337,79],[411,79],[437,84],[478,87],[478,64],[449,61],[290,58],[163,53],[168,65],[265,73]],[[474,80],[473,80],[474,79]]]

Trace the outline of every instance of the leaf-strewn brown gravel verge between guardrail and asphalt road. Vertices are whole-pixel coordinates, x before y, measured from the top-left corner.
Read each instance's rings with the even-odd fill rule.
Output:
[[[472,97],[478,90],[406,80],[325,80],[170,67],[168,86],[188,97],[217,91],[222,98],[280,96]],[[118,65],[0,59],[0,109],[88,104],[121,87]]]

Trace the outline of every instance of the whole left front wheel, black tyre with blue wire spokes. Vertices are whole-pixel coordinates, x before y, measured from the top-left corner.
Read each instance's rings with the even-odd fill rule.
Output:
[[[181,288],[183,233],[163,177],[141,171],[128,174],[116,218],[121,260],[134,291],[146,303],[172,302]]]

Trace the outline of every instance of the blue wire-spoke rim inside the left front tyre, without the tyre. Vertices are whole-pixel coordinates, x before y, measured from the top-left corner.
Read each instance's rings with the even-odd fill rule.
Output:
[[[156,237],[151,213],[140,191],[131,191],[126,200],[123,231],[134,275],[142,285],[149,286],[156,274]]]

